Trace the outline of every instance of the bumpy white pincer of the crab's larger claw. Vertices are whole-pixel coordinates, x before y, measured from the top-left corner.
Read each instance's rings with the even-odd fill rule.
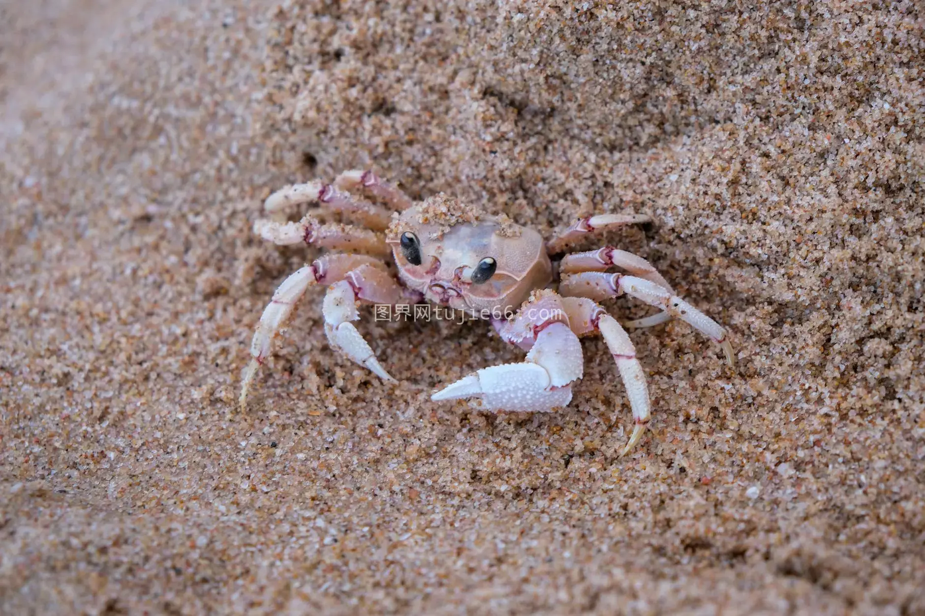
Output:
[[[549,373],[536,363],[505,363],[482,368],[439,390],[430,400],[481,397],[489,410],[541,413],[565,406],[572,388],[550,388]]]

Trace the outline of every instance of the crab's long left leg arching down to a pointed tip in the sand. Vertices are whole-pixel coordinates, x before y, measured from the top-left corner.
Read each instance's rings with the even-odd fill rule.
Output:
[[[341,280],[352,272],[363,272],[369,276],[369,270],[375,270],[381,277],[388,277],[386,265],[374,257],[364,254],[326,254],[305,265],[287,277],[273,294],[273,300],[266,306],[260,323],[253,333],[251,342],[251,363],[244,371],[240,389],[240,408],[247,405],[247,394],[256,375],[257,369],[273,351],[273,339],[280,327],[289,320],[295,305],[309,287],[329,281]],[[392,284],[395,284],[392,281]],[[396,285],[397,286],[397,285]]]

